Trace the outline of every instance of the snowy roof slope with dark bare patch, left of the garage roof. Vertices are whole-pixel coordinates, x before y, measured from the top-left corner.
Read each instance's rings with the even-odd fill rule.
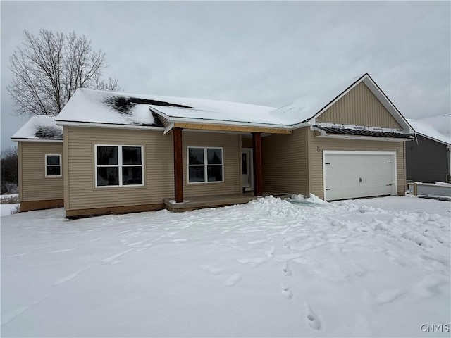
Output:
[[[239,123],[281,124],[271,116],[275,108],[208,99],[188,99],[78,89],[58,115],[59,121],[161,126],[156,111],[169,121],[221,120]]]

